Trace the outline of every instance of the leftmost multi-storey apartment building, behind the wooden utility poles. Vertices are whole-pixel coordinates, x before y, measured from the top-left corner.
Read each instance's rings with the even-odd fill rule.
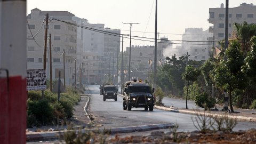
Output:
[[[64,82],[63,61],[65,61],[65,80],[66,85],[71,85],[72,74],[75,67],[75,59],[77,55],[77,27],[58,20],[76,23],[72,20],[75,15],[68,11],[41,11],[39,9],[31,10],[27,16],[27,69],[43,68],[44,62],[44,39],[46,13],[49,14],[49,23],[47,36],[51,34],[52,41],[52,78],[58,78],[61,71],[61,81]],[[34,38],[33,38],[34,37]],[[65,60],[63,60],[63,51],[65,50]],[[46,54],[46,76],[50,79],[49,68],[49,42],[47,43]]]

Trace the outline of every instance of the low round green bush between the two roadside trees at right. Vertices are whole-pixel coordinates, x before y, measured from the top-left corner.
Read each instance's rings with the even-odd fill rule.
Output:
[[[198,107],[204,108],[205,110],[207,108],[211,109],[215,106],[216,100],[213,98],[209,99],[209,94],[206,92],[203,92],[201,94],[196,95],[195,104]]]

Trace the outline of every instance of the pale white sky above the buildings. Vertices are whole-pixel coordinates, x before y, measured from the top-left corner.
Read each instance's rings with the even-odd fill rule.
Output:
[[[226,7],[226,0],[158,0],[159,37],[182,40],[181,35],[186,28],[208,29],[211,26],[207,21],[209,8],[220,7],[221,3]],[[241,3],[256,5],[255,0],[229,0],[229,7],[237,7]],[[130,34],[130,25],[123,22],[140,23],[132,26],[132,35],[155,38],[155,0],[27,0],[27,14],[35,8],[42,11],[69,11],[76,17],[89,20],[89,23],[103,23],[105,28],[121,29],[121,34]],[[145,30],[147,33],[144,34]],[[124,38],[124,41],[125,50],[125,47],[130,46],[130,39]],[[154,45],[154,42],[132,39],[132,45]]]

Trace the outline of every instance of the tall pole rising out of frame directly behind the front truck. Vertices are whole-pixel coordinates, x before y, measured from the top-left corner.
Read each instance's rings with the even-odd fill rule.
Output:
[[[154,88],[156,89],[156,61],[157,61],[157,0],[156,0],[156,18],[155,18],[155,63],[154,63]]]

